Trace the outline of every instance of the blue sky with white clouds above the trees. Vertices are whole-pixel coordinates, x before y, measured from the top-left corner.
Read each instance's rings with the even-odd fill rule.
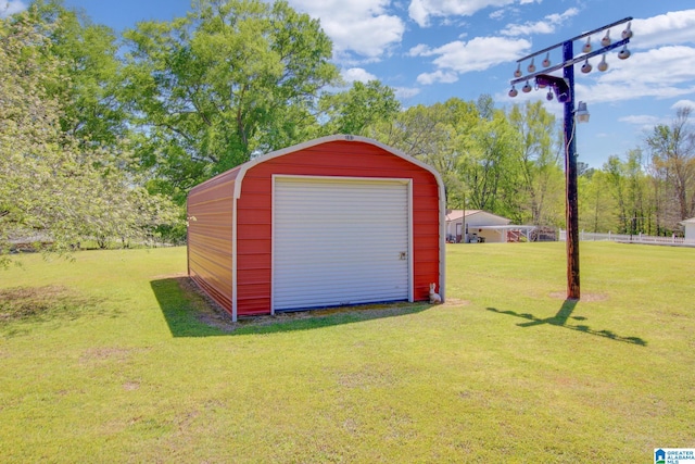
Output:
[[[695,4],[692,0],[289,0],[321,22],[333,40],[333,61],[345,80],[377,78],[396,90],[404,108],[452,97],[491,95],[498,108],[541,100],[561,118],[545,91],[507,96],[516,60],[585,32],[634,17],[632,57],[607,57],[609,68],[576,70],[577,101],[589,124],[577,127],[579,160],[601,167],[611,154],[643,145],[655,124],[668,124],[679,105],[695,108]],[[0,0],[0,14],[27,0]],[[65,0],[116,32],[139,21],[169,21],[190,0]],[[4,13],[3,13],[4,12]],[[619,38],[624,25],[610,32]],[[596,46],[602,37],[594,37]],[[583,42],[574,46],[576,54]],[[541,58],[542,59],[542,58]],[[551,54],[557,62],[559,54]],[[536,63],[538,64],[538,63]]]

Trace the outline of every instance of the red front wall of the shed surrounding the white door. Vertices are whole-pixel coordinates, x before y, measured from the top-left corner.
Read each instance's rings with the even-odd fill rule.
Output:
[[[413,292],[415,301],[429,299],[429,284],[440,281],[440,198],[437,177],[380,147],[337,140],[274,158],[251,167],[241,184],[237,278],[238,314],[270,313],[273,175],[396,177],[412,179]],[[245,215],[253,211],[254,220]],[[253,252],[248,242],[254,241]],[[242,254],[245,253],[245,254]]]

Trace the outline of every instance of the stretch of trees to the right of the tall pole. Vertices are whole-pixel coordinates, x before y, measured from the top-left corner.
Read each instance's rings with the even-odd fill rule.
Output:
[[[671,235],[695,216],[693,109],[656,125],[641,147],[580,177],[580,223],[591,231]]]

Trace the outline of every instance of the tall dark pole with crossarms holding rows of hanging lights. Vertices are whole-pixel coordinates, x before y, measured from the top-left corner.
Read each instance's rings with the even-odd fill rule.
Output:
[[[574,137],[574,120],[578,123],[589,122],[589,111],[586,110],[586,103],[579,102],[577,111],[574,111],[574,64],[584,62],[581,71],[584,74],[589,74],[592,71],[592,65],[589,63],[591,58],[603,54],[603,60],[598,63],[598,70],[605,72],[608,70],[608,63],[606,62],[606,53],[616,48],[622,47],[622,50],[618,53],[620,60],[627,60],[630,58],[630,50],[628,50],[628,43],[633,36],[630,28],[630,21],[632,17],[626,17],[624,20],[617,21],[606,26],[599,27],[580,36],[573,37],[564,42],[554,45],[552,47],[539,50],[517,60],[517,71],[514,73],[516,77],[509,84],[511,84],[511,90],[509,97],[516,97],[517,91],[514,87],[515,84],[526,80],[526,86],[522,90],[525,92],[531,91],[529,80],[535,79],[538,88],[549,86],[553,88],[557,101],[565,104],[564,111],[564,131],[565,131],[565,177],[567,184],[567,197],[566,197],[566,218],[567,218],[567,298],[570,300],[579,300],[581,297],[580,283],[579,283],[579,208],[578,208],[578,195],[577,195],[577,143]],[[622,40],[612,42],[610,40],[610,28],[620,24],[628,23],[628,26],[622,30]],[[604,33],[605,35],[601,39],[602,48],[593,50],[591,45],[591,37],[594,34]],[[582,47],[582,51],[578,57],[574,57],[573,43],[576,40],[586,39]],[[551,61],[548,59],[551,50],[561,48],[563,62],[554,66],[549,66]],[[535,72],[533,60],[535,57],[545,53],[546,59],[543,60],[543,70]],[[529,74],[521,75],[521,63],[526,60],[530,60],[530,65],[527,67]],[[563,70],[563,77],[553,76],[551,73]],[[546,96],[547,100],[553,100],[553,93],[548,90]]]

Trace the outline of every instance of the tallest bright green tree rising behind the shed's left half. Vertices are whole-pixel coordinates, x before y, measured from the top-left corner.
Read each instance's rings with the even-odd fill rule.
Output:
[[[124,102],[151,188],[188,189],[311,137],[338,72],[318,21],[286,1],[201,0],[186,17],[126,30]]]

